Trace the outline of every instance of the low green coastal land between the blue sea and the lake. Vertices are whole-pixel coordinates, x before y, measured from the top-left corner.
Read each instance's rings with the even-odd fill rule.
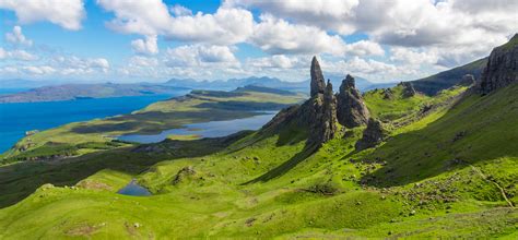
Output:
[[[0,163],[34,157],[71,156],[127,146],[114,142],[114,136],[127,133],[157,133],[181,128],[184,124],[214,120],[246,118],[250,110],[280,109],[305,98],[302,94],[195,91],[185,98],[158,101],[131,115],[74,122],[22,139],[10,151],[0,155]],[[72,144],[73,143],[73,144]],[[26,151],[19,151],[28,146]]]

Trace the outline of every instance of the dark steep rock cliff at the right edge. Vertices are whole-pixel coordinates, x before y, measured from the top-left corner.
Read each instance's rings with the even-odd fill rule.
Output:
[[[480,93],[485,95],[513,82],[518,82],[518,34],[491,51],[487,65],[482,72]]]

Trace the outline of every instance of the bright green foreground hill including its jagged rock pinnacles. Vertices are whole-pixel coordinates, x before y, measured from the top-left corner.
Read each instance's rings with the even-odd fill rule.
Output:
[[[516,239],[516,50],[434,96],[334,94],[315,58],[309,99],[259,131],[4,166],[0,237]]]

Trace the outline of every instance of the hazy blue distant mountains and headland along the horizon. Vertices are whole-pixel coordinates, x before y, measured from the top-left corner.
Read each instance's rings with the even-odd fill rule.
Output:
[[[341,77],[330,75],[333,84],[339,86]],[[389,87],[395,84],[376,84],[365,79],[356,77],[356,85],[361,91],[379,87]],[[275,77],[246,77],[227,81],[195,81],[191,79],[172,79],[165,83],[92,83],[63,84],[63,82],[3,80],[1,88],[31,88],[24,92],[0,95],[0,103],[34,103],[72,100],[83,98],[106,98],[123,96],[143,96],[153,94],[170,94],[187,89],[217,89],[232,91],[244,86],[269,87],[281,91],[308,93],[309,80],[303,82],[284,82]]]

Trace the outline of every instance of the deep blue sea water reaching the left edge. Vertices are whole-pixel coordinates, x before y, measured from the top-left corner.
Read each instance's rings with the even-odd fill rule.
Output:
[[[130,113],[152,103],[179,96],[146,95],[97,99],[0,104],[0,153],[13,146],[30,130],[46,130],[70,122]]]

